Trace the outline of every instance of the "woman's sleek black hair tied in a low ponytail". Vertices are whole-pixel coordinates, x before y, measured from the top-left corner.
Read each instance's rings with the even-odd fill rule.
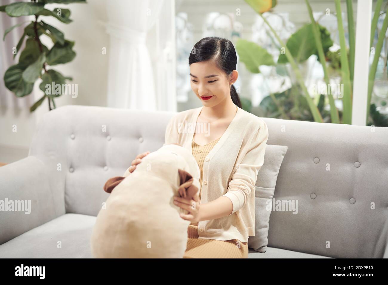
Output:
[[[219,69],[228,76],[236,69],[237,54],[233,43],[225,38],[206,37],[198,41],[189,56],[189,65],[195,62],[214,60]],[[233,85],[230,86],[230,97],[234,104],[242,108],[239,95]]]

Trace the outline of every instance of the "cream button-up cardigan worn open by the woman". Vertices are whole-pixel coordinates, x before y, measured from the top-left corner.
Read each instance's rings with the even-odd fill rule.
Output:
[[[192,151],[197,118],[203,107],[175,114],[166,127],[165,144],[180,143]],[[205,126],[197,131],[208,133]],[[225,217],[199,221],[199,238],[238,239],[248,242],[255,235],[255,184],[263,165],[268,140],[267,124],[259,117],[237,108],[237,113],[203,165],[200,204],[228,197],[233,212]]]

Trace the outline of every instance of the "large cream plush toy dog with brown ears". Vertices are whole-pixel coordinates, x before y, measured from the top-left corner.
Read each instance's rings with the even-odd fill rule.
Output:
[[[111,193],[97,215],[90,240],[95,258],[182,258],[190,221],[173,197],[198,194],[199,167],[189,150],[163,145],[146,155],[135,171],[110,178]]]

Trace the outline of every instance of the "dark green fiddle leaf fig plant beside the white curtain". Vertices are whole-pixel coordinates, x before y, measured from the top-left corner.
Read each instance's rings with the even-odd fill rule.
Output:
[[[22,22],[6,29],[3,36],[4,40],[5,36],[14,28],[29,23],[24,27],[23,35],[12,50],[14,59],[16,55],[19,55],[19,62],[5,71],[4,84],[17,97],[24,97],[32,92],[36,80],[42,79],[39,88],[44,94],[30,107],[30,112],[35,111],[46,97],[49,102],[49,110],[55,108],[54,98],[66,93],[68,88],[66,80],[73,80],[71,77],[63,76],[59,71],[52,69],[52,66],[57,64],[71,62],[76,56],[73,50],[74,41],[67,40],[63,32],[41,19],[42,16],[54,17],[64,24],[73,21],[70,19],[69,9],[49,10],[45,8],[46,4],[52,3],[86,3],[86,0],[31,0],[31,2],[16,2],[0,6],[0,12],[10,17],[34,16],[33,21]],[[54,43],[51,49],[43,45],[40,40],[43,35],[48,36]],[[24,39],[26,39],[26,44],[23,51],[20,51]]]

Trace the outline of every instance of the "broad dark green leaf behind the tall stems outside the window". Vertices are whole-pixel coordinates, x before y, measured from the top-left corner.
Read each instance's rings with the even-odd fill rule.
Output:
[[[320,37],[322,42],[323,51],[326,54],[329,47],[333,45],[333,41],[330,38],[330,33],[323,26],[318,24],[320,30]],[[302,62],[308,59],[311,55],[318,55],[318,50],[315,45],[314,31],[312,24],[307,24],[298,29],[288,39],[286,47],[291,52],[291,55],[296,59],[296,62]],[[277,63],[287,63],[288,59],[285,54],[279,55]]]

